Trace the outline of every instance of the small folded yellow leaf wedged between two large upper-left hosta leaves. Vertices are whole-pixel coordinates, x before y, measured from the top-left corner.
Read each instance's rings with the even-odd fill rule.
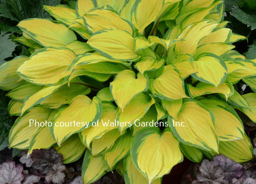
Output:
[[[88,39],[90,34],[86,30],[85,25],[83,24],[83,17],[78,17],[70,26],[72,30],[76,31],[83,39]]]

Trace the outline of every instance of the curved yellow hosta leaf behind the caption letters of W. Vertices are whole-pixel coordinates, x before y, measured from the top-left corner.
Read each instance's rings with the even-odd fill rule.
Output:
[[[79,136],[86,147],[91,148],[90,143],[93,141],[93,139],[101,138],[106,132],[117,128],[116,126],[111,126],[110,124],[110,122],[115,121],[116,110],[117,107],[115,107],[114,104],[102,103],[102,116],[98,121],[98,125],[90,126],[79,133]]]

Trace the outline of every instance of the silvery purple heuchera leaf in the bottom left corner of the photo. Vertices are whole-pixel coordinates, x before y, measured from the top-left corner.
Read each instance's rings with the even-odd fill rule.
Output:
[[[0,183],[21,184],[24,179],[23,166],[15,166],[14,161],[8,161],[0,165]]]

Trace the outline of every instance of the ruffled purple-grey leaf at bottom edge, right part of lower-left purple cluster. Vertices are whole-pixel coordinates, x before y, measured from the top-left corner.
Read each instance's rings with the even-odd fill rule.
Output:
[[[52,166],[52,169],[49,171],[48,175],[45,176],[45,180],[48,183],[55,183],[55,184],[61,184],[64,182],[65,179],[65,173],[64,171],[67,170],[66,167],[61,164],[57,163]]]

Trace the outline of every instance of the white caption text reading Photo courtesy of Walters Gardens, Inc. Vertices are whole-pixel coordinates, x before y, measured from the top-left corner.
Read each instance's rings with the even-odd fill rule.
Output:
[[[78,122],[76,120],[73,120],[71,122],[50,122],[50,121],[38,121],[36,119],[30,119],[29,120],[29,126],[57,126],[57,127],[85,127],[88,128],[90,126],[111,126],[111,127],[130,127],[130,126],[142,126],[142,127],[146,127],[146,126],[158,126],[158,127],[171,127],[171,126],[177,126],[177,127],[186,127],[186,123],[185,122],[178,122],[176,120],[171,120],[171,121],[159,121],[156,122],[155,120],[151,120],[151,121],[141,121],[140,119],[136,119],[134,122],[120,122],[118,120],[96,120],[94,122]]]

